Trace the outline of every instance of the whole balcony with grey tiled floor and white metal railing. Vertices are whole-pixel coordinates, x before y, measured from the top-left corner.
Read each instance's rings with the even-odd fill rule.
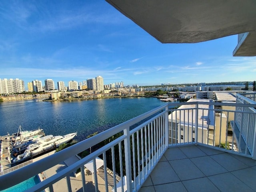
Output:
[[[22,168],[1,172],[0,190],[39,174],[42,181],[27,191],[255,191],[254,101],[238,94],[237,103],[191,100],[173,109],[176,105],[164,104]],[[88,156],[76,158],[90,148]]]

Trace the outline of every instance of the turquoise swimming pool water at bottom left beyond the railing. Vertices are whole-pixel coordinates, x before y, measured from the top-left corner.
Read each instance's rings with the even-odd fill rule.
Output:
[[[31,188],[32,186],[34,186],[38,183],[40,183],[40,180],[39,180],[38,176],[36,175],[24,182],[14,185],[14,186],[12,186],[8,189],[5,189],[1,192],[24,192],[25,190]]]

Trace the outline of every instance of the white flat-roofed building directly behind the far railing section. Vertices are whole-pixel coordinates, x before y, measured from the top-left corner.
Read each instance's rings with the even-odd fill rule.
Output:
[[[213,102],[205,99],[190,99],[188,102]],[[192,108],[192,109],[190,109]],[[169,140],[186,143],[195,140],[204,144],[218,145],[226,140],[226,114],[214,112],[213,105],[200,104],[196,116],[195,105],[183,105],[169,115]],[[190,122],[190,123],[188,123]],[[198,123],[197,133],[195,132]],[[221,129],[222,127],[222,129]],[[215,134],[214,134],[215,132]]]

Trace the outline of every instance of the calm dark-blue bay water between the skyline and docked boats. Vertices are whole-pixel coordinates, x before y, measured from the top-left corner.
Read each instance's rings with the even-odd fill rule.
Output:
[[[43,102],[42,99],[0,103],[0,135],[43,128],[46,135],[78,132],[82,141],[165,104],[157,98],[108,98],[80,101]]]

